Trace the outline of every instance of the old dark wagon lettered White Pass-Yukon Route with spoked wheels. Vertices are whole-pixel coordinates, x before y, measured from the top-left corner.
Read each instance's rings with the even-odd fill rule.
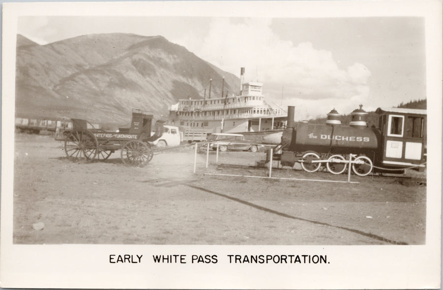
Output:
[[[56,140],[64,140],[64,152],[70,160],[104,161],[117,150],[125,164],[143,167],[154,156],[151,142],[163,134],[162,120],[154,120],[152,112],[132,109],[130,128],[118,132],[88,129],[91,124],[83,119],[71,119],[71,129],[57,132]],[[89,125],[88,125],[89,124]],[[155,130],[155,133],[152,133]]]

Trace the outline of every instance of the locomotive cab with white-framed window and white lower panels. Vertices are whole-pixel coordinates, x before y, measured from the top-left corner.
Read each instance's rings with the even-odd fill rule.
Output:
[[[426,110],[378,108],[381,163],[387,167],[418,166],[423,170],[426,152]]]

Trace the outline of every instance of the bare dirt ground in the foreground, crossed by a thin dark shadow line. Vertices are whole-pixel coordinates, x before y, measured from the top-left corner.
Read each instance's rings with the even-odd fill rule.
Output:
[[[208,168],[199,153],[193,173],[191,147],[164,151],[143,168],[124,165],[120,151],[104,162],[78,163],[65,158],[62,146],[50,135],[16,134],[15,244],[425,243],[426,183],[416,179],[351,175],[359,184],[348,184],[207,175],[268,172],[217,165],[210,152]],[[219,164],[264,158],[264,152],[222,152]],[[348,178],[288,168],[272,175]],[[44,228],[33,229],[39,222]]]

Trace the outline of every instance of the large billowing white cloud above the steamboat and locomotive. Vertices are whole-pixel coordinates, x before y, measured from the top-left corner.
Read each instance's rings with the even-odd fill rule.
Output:
[[[364,64],[340,67],[330,51],[310,42],[282,40],[270,24],[270,19],[261,18],[236,23],[214,19],[194,52],[236,75],[246,67],[245,80],[263,82],[264,94],[278,104],[284,87],[284,105],[306,106],[303,118],[327,114],[333,107],[345,114],[359,103],[369,103],[371,72]]]

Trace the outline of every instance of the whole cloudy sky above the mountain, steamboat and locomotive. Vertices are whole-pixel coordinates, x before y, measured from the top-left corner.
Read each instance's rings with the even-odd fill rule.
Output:
[[[17,32],[42,45],[92,33],[161,35],[237,76],[245,67],[245,81],[263,83],[268,103],[295,106],[296,120],[426,98],[420,17],[21,16]]]

